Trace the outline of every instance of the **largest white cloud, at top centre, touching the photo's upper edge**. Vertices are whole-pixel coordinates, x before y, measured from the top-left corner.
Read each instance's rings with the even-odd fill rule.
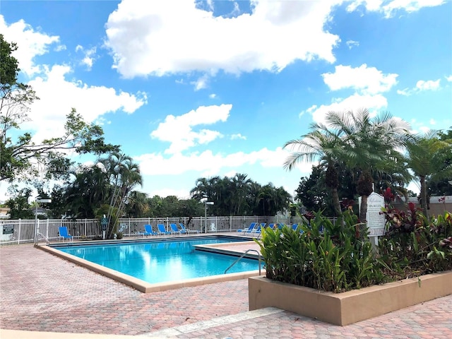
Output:
[[[251,13],[223,18],[197,8],[195,1],[142,6],[123,0],[108,18],[106,44],[126,78],[220,69],[280,71],[295,60],[333,62],[340,39],[325,24],[341,2],[254,0]]]

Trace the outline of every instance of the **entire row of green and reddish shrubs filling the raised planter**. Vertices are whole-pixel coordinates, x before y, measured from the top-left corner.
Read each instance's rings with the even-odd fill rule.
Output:
[[[262,231],[266,277],[318,290],[343,292],[452,270],[452,215],[427,220],[414,208],[386,208],[386,234],[374,248],[350,211],[333,224],[311,213],[297,230]]]

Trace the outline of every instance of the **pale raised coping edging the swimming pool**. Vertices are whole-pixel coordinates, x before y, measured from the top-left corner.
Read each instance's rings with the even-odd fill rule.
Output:
[[[246,243],[246,242],[241,242]],[[222,243],[215,244],[220,245],[222,247],[227,246],[227,244],[231,243]],[[209,246],[209,245],[196,245],[196,246]],[[153,293],[153,292],[162,292],[166,290],[176,290],[182,287],[194,287],[199,285],[208,285],[214,283],[222,283],[224,281],[232,281],[232,280],[240,280],[246,279],[250,277],[255,277],[259,275],[259,270],[249,270],[246,272],[240,273],[227,273],[222,275],[211,275],[210,277],[203,278],[191,278],[186,280],[179,280],[177,282],[171,283],[147,283],[144,280],[134,278],[131,275],[118,272],[117,270],[112,270],[111,268],[106,268],[97,263],[93,263],[91,261],[85,260],[83,258],[78,258],[77,256],[73,256],[71,254],[67,254],[63,251],[59,251],[58,249],[54,249],[51,246],[38,244],[35,245],[36,248],[42,249],[43,251],[47,251],[54,256],[59,256],[60,258],[64,258],[67,261],[72,263],[76,263],[78,266],[82,266],[84,268],[88,268],[89,270],[93,270],[96,273],[101,275],[105,275],[108,278],[118,281],[119,283],[123,283],[125,285],[129,285],[134,289],[143,292],[143,293]],[[214,253],[222,253],[223,254],[231,254],[237,256],[237,254],[242,254],[240,251],[226,250],[226,249],[215,249],[212,247],[211,249],[203,249],[203,251],[212,251]],[[261,271],[261,275],[265,275],[265,270]]]

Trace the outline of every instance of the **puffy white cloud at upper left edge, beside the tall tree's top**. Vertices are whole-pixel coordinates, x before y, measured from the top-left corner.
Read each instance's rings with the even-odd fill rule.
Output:
[[[35,64],[35,57],[47,53],[49,45],[59,43],[58,36],[36,32],[23,20],[8,25],[4,20],[4,16],[1,15],[0,32],[4,35],[7,42],[16,42],[18,45],[18,49],[13,52],[13,56],[18,59],[20,70],[28,76],[41,71],[40,66]]]

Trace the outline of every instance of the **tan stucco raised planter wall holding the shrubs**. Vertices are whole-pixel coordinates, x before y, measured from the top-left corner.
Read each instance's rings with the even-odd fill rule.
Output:
[[[452,294],[452,271],[343,293],[323,292],[265,277],[248,279],[249,310],[278,307],[345,326]]]

